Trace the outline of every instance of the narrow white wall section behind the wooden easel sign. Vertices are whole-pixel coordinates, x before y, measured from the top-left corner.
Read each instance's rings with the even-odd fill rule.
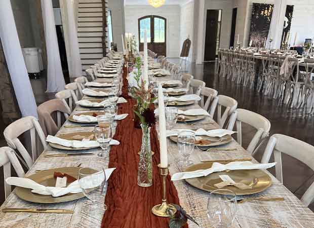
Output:
[[[193,25],[194,25],[194,2],[188,2],[187,4],[184,4],[181,6],[181,19],[180,19],[180,51],[182,49],[183,42],[187,39],[187,37],[190,37],[191,40],[191,47],[190,52],[188,55],[188,60],[192,61],[193,56],[193,45],[194,45],[194,37],[193,37]]]

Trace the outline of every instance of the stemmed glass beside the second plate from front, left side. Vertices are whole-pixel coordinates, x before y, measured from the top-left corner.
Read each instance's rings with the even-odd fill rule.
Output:
[[[99,143],[102,151],[98,153],[99,157],[106,157],[109,154],[109,145],[112,139],[112,130],[110,122],[102,123],[94,129],[95,138]]]

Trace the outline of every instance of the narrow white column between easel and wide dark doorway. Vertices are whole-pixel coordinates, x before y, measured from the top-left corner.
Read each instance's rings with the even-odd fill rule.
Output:
[[[197,49],[197,64],[202,64],[204,61],[204,31],[205,31],[205,0],[199,1],[199,26],[198,26],[198,49]]]

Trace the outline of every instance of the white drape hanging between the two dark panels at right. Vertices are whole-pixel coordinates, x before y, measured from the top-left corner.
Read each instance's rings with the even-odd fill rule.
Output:
[[[274,0],[271,22],[267,37],[266,48],[269,48],[269,39],[272,38],[271,48],[279,49],[284,29],[287,0]]]

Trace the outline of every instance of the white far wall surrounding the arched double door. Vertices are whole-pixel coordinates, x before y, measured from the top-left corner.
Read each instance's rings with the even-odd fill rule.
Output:
[[[180,6],[165,5],[155,9],[151,6],[144,5],[126,5],[126,32],[134,33],[135,37],[138,39],[138,19],[147,15],[162,16],[167,19],[167,57],[178,57],[181,51]],[[112,21],[112,23],[114,23],[114,21]]]

